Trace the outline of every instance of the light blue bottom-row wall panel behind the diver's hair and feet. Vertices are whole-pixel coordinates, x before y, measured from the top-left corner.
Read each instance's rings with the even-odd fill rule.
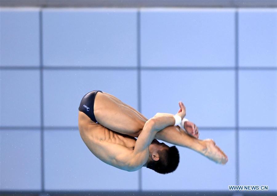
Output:
[[[180,163],[175,172],[158,174],[143,168],[143,190],[225,190],[235,185],[235,131],[200,131],[200,139],[213,138],[229,161],[219,165],[201,154],[178,147]],[[168,144],[171,146],[171,144]]]

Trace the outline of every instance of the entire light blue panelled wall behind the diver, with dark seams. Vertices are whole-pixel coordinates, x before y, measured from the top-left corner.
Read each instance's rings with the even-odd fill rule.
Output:
[[[136,191],[140,183],[145,191],[226,191],[237,181],[277,190],[276,10],[0,13],[1,190],[41,190],[42,169],[44,189],[51,191]],[[144,168],[141,182],[140,171],[102,163],[76,129],[80,100],[94,89],[148,118],[176,113],[182,100],[200,139],[213,138],[229,162],[218,165],[179,147],[174,173]]]

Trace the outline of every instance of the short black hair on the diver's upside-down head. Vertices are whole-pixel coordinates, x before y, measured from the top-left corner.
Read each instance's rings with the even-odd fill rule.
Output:
[[[176,146],[169,147],[168,150],[158,151],[159,160],[150,161],[147,168],[153,169],[160,174],[168,174],[174,172],[179,165],[180,155]]]

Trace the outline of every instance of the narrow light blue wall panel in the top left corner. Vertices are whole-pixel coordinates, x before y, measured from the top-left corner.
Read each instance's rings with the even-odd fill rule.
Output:
[[[39,66],[39,10],[0,11],[0,65]]]

